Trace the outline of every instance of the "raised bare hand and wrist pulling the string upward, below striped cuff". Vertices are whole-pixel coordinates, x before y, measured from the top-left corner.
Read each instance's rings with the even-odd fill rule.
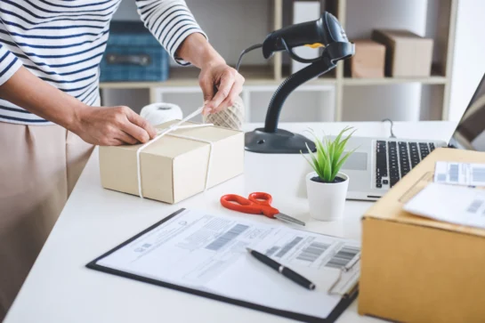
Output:
[[[219,112],[234,104],[242,92],[244,77],[226,64],[205,36],[198,33],[187,36],[176,56],[200,69],[198,84],[204,93],[204,114]]]

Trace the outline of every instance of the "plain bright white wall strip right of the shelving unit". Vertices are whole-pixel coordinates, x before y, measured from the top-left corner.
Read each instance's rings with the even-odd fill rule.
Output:
[[[483,0],[460,0],[458,3],[454,61],[449,119],[458,121],[485,73],[485,1]]]

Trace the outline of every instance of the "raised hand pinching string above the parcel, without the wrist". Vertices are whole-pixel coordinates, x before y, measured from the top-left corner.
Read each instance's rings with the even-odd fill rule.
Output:
[[[242,92],[244,77],[225,61],[210,61],[202,67],[198,84],[204,93],[203,114],[229,108]]]

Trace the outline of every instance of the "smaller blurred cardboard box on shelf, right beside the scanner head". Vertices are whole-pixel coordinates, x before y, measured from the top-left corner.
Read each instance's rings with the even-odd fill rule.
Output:
[[[356,39],[355,54],[349,61],[351,77],[384,77],[385,46],[370,39]]]

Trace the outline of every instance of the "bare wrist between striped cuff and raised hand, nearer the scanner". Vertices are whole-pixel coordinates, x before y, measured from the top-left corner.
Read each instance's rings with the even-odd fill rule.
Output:
[[[179,46],[176,55],[199,69],[204,69],[207,65],[225,64],[222,56],[209,44],[206,37],[199,33],[187,36]]]

